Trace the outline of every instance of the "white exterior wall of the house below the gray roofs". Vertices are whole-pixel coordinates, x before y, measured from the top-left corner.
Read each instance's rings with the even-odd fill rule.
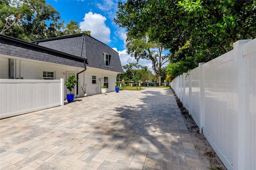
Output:
[[[67,72],[74,72],[79,73],[80,71],[84,70],[83,68],[71,67],[71,66],[64,66],[60,64],[53,64],[53,63],[46,63],[46,62],[39,62],[34,60],[22,59],[16,57],[11,57],[15,59],[15,73],[14,78],[23,77],[23,79],[43,79],[43,71],[53,71],[55,74],[55,79],[67,79]],[[8,79],[9,77],[9,59],[7,56],[1,55],[0,57],[0,79]],[[96,76],[97,84],[92,84],[92,75]],[[86,93],[87,95],[96,95],[100,94],[100,87],[103,86],[103,83],[100,83],[98,79],[104,77],[108,77],[109,81],[109,88],[107,92],[115,91],[115,83],[116,83],[116,76],[117,73],[112,71],[103,71],[100,69],[94,69],[92,67],[87,67],[86,71],[80,73],[78,75],[78,96],[75,97],[83,97],[82,87],[86,86]],[[97,91],[96,91],[97,88]],[[76,94],[76,87],[73,90]],[[73,92],[72,92],[73,93]],[[64,99],[66,99],[67,90],[64,89]]]

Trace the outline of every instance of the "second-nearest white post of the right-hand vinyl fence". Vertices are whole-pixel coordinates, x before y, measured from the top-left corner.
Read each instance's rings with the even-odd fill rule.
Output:
[[[199,133],[202,133],[202,128],[204,125],[204,114],[205,114],[205,109],[204,109],[204,70],[202,68],[202,65],[204,63],[199,63],[199,75],[200,75],[200,127],[199,127]]]

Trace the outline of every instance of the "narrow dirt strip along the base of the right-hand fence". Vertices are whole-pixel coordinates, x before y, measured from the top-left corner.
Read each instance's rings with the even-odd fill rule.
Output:
[[[174,93],[174,91],[173,91]],[[199,128],[192,119],[191,115],[188,114],[188,111],[183,107],[180,99],[174,93],[176,102],[178,107],[180,108],[180,112],[185,121],[186,127],[190,133],[192,142],[196,148],[198,156],[200,158],[200,162],[204,169],[212,169],[212,170],[226,170],[226,167],[221,162],[218,155],[213,150],[212,146],[209,144],[204,134],[199,133]]]

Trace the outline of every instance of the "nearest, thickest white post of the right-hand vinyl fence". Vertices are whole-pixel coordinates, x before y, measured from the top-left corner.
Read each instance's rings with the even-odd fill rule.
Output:
[[[245,134],[246,134],[246,124],[245,124],[245,87],[242,84],[245,83],[245,61],[243,56],[243,44],[250,40],[239,40],[233,44],[234,53],[236,57],[234,58],[234,94],[238,94],[238,99],[234,101],[238,104],[237,112],[234,113],[234,130],[233,130],[233,162],[234,169],[245,169]]]

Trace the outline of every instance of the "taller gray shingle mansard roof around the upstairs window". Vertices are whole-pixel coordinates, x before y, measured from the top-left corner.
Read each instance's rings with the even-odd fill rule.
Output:
[[[35,42],[48,48],[86,58],[88,59],[88,67],[123,73],[118,52],[86,34],[33,41],[33,43]],[[109,67],[105,66],[103,53],[111,55]]]

